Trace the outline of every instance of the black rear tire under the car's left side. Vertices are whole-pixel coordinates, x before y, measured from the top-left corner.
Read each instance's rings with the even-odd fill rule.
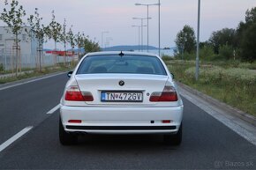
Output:
[[[63,124],[61,122],[61,119],[59,119],[59,141],[63,145],[72,145],[77,144],[78,137],[72,133],[67,133],[64,130]]]

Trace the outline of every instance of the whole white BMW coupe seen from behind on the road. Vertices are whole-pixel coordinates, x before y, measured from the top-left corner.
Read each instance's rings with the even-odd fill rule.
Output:
[[[183,102],[158,55],[97,52],[68,73],[60,102],[59,139],[79,134],[162,134],[181,144]]]

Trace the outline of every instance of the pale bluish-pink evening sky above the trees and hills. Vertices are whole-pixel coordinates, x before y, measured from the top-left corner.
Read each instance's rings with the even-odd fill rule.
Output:
[[[4,0],[0,1],[2,12]],[[54,10],[57,22],[63,24],[65,18],[74,33],[83,32],[100,45],[102,32],[108,32],[103,33],[103,44],[108,41],[108,47],[138,45],[139,31],[132,25],[139,26],[140,20],[132,18],[147,18],[147,7],[136,3],[157,4],[158,0],[19,0],[26,18],[38,8],[47,25]],[[211,33],[222,28],[237,28],[245,20],[245,11],[255,6],[256,0],[201,0],[200,41],[207,41]],[[198,0],[161,0],[161,48],[174,47],[184,25],[192,26],[197,33],[197,14]],[[149,6],[149,17],[149,45],[158,47],[158,6]],[[5,26],[2,21],[0,26]],[[147,27],[143,29],[143,44],[147,44]],[[52,42],[45,44],[45,48],[51,47]]]

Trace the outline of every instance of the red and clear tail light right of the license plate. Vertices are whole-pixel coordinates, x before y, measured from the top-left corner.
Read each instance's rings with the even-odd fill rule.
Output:
[[[153,92],[150,101],[177,101],[177,92],[174,87],[165,85],[162,92]]]

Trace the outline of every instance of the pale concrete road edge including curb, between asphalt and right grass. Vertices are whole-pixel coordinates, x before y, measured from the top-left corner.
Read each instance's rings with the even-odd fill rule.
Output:
[[[191,101],[207,114],[212,115],[218,121],[244,137],[250,143],[256,145],[256,120],[252,115],[248,115],[237,108],[215,100],[206,94],[192,89],[187,85],[177,83],[181,95]]]

